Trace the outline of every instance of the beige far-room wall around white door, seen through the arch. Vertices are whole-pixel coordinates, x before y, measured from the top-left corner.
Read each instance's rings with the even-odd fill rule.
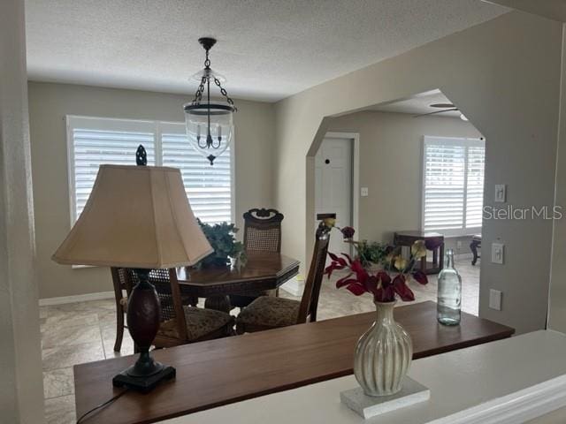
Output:
[[[420,228],[423,136],[482,136],[458,117],[415,119],[379,111],[333,117],[327,130],[360,134],[360,186],[370,195],[359,198],[358,238],[383,242],[392,242],[394,231]],[[466,241],[456,253],[470,253]]]

